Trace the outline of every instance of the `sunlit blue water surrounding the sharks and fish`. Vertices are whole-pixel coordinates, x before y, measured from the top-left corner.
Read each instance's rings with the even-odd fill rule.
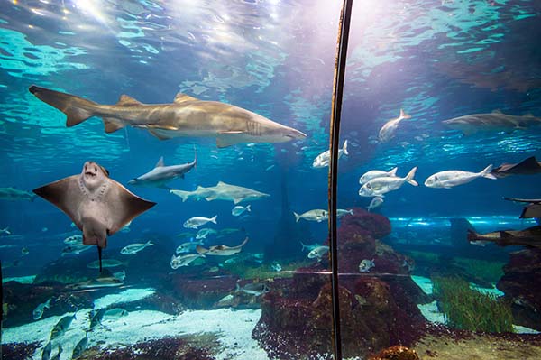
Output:
[[[0,187],[35,189],[79,173],[87,160],[125,185],[161,156],[166,164],[191,162],[195,145],[197,168],[171,188],[225,181],[271,198],[252,202],[249,216],[239,218],[231,215],[231,202],[183,203],[165,189],[128,187],[158,205],[135,218],[129,233],[110,237],[105,257],[156,235],[170,236],[174,248],[186,219],[215,215],[216,228],[245,229],[251,238],[245,251],[261,253],[277,234],[282,180],[291,211],[327,207],[327,170],[311,164],[328,149],[339,7],[326,0],[2,2]],[[441,123],[496,109],[541,116],[540,14],[535,0],[355,2],[340,141],[348,140],[350,154],[339,162],[339,208],[367,207],[370,198],[358,196],[359,177],[395,166],[400,176],[417,166],[419,186],[387,194],[378,209],[387,217],[483,217],[496,230],[496,217],[518,218],[521,211],[502,197],[539,198],[541,175],[479,179],[454,189],[423,182],[437,171],[541,160],[541,126],[464,137]],[[307,138],[218,149],[214,139],[160,141],[129,127],[105,134],[96,117],[67,128],[65,115],[28,92],[32,84],[100,104],[115,104],[121,94],[169,103],[183,92],[241,106]],[[378,143],[381,126],[400,108],[412,118],[389,143]],[[0,214],[0,228],[22,236],[0,252],[4,262],[21,260],[5,276],[39,272],[60,257],[63,234],[74,230],[41,198],[0,199]],[[325,240],[326,222],[309,223],[309,230],[308,243]],[[237,237],[227,245],[243,240]],[[22,247],[30,254],[21,256]]]

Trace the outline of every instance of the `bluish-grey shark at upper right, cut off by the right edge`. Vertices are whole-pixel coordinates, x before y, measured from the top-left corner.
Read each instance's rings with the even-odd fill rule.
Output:
[[[488,114],[472,114],[454,117],[442,122],[444,125],[460,130],[465,136],[478,132],[505,132],[527,129],[530,126],[541,125],[541,118],[528,114],[523,116],[505,115],[499,110]]]

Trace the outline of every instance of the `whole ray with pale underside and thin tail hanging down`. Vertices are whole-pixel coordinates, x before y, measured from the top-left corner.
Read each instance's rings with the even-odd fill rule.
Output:
[[[84,245],[97,245],[100,272],[107,236],[156,205],[133,195],[109,178],[109,171],[96,162],[85,162],[80,174],[51,182],[33,192],[71,218],[83,232]]]

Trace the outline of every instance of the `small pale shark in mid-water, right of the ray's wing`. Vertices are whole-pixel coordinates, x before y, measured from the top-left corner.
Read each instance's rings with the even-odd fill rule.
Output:
[[[267,198],[271,195],[265,194],[254,189],[243,188],[242,186],[226,184],[223,181],[209,188],[203,188],[198,186],[195,191],[183,191],[183,190],[170,190],[170,193],[182,198],[182,202],[188,200],[188,198],[201,199],[205,198],[206,201],[213,200],[227,200],[233,201],[234,204],[238,204],[243,201],[258,200],[260,198]]]

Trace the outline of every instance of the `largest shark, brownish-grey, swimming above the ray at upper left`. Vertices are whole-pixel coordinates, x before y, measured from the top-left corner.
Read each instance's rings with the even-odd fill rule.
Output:
[[[170,104],[142,104],[122,95],[115,105],[101,105],[83,97],[32,85],[29,91],[63,112],[66,126],[89,117],[103,119],[105,133],[127,125],[148,130],[160,140],[175,137],[215,137],[219,148],[236,143],[284,143],[304,139],[297,129],[280,125],[239,106],[204,101],[179,93]]]

